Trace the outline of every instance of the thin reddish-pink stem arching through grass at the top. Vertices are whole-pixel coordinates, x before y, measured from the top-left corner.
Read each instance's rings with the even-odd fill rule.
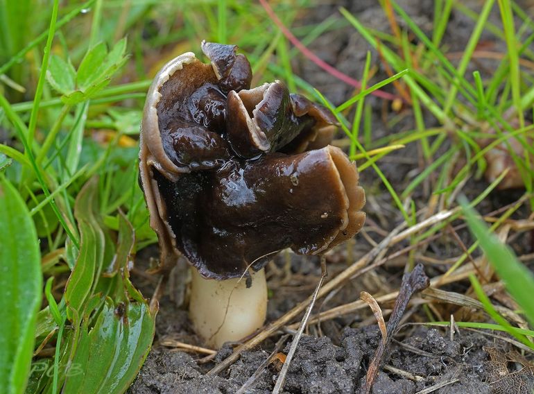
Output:
[[[314,62],[316,65],[318,65],[318,67],[327,71],[328,74],[330,74],[331,76],[335,76],[339,80],[342,80],[347,85],[351,85],[358,89],[361,88],[361,82],[359,80],[355,80],[354,78],[350,78],[350,76],[343,74],[341,71],[339,71],[335,67],[332,67],[327,62],[320,59],[315,53],[307,49],[307,47],[304,46],[304,44],[302,44],[302,42],[300,42],[298,38],[295,37],[295,35],[293,35],[293,33],[291,33],[291,31],[288,28],[286,28],[286,26],[284,26],[282,21],[277,17],[275,12],[273,11],[273,8],[270,8],[267,0],[259,0],[259,3],[261,3],[261,6],[263,6],[265,11],[269,15],[270,19],[273,22],[275,22],[276,26],[278,26],[278,28],[282,31],[282,33],[284,33],[284,35],[291,42],[291,44],[295,45],[304,56],[306,56],[307,58],[309,58],[309,60]],[[380,97],[381,99],[386,99],[386,100],[391,100],[391,101],[397,99],[397,96],[395,96],[394,94],[383,92],[381,90],[375,90],[371,94],[373,94],[374,96]]]

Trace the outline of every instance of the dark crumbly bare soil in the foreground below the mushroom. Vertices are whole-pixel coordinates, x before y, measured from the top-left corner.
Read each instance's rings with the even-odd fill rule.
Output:
[[[374,354],[380,334],[376,327],[344,329],[334,345],[327,336],[302,336],[295,359],[289,368],[286,393],[360,393],[365,384],[365,365]],[[391,372],[380,372],[372,393],[415,393],[429,386],[454,382],[434,393],[490,393],[483,382],[483,365],[488,355],[480,350],[484,340],[478,335],[465,334],[460,339],[445,339],[436,329],[419,328],[393,345],[388,364],[410,370],[420,377],[418,382]],[[409,345],[427,352],[427,356],[406,350]],[[288,350],[289,343],[286,345]],[[268,357],[259,350],[245,352],[230,367],[227,376],[203,374],[195,359],[184,352],[161,348],[150,353],[132,393],[235,393]],[[277,378],[274,366],[268,367],[249,393],[263,394],[273,390]]]

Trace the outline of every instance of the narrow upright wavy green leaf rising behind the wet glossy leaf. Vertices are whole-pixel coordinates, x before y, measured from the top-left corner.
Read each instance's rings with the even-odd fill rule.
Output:
[[[67,302],[67,317],[79,318],[85,301],[89,297],[94,280],[100,272],[104,257],[104,234],[96,215],[98,214],[98,180],[92,178],[81,189],[74,206],[74,217],[80,230],[80,252],[71,276],[65,287],[64,298]]]

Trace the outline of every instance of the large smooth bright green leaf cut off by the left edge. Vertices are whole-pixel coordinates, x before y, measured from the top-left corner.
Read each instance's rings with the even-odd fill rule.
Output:
[[[39,241],[28,208],[0,175],[0,387],[22,393],[41,304]]]

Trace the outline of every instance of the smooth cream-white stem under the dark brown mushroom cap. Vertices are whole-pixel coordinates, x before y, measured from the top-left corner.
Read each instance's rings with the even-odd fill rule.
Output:
[[[189,316],[197,334],[207,346],[221,348],[227,341],[239,341],[264,325],[267,312],[267,284],[263,269],[246,278],[212,280],[191,268]]]

